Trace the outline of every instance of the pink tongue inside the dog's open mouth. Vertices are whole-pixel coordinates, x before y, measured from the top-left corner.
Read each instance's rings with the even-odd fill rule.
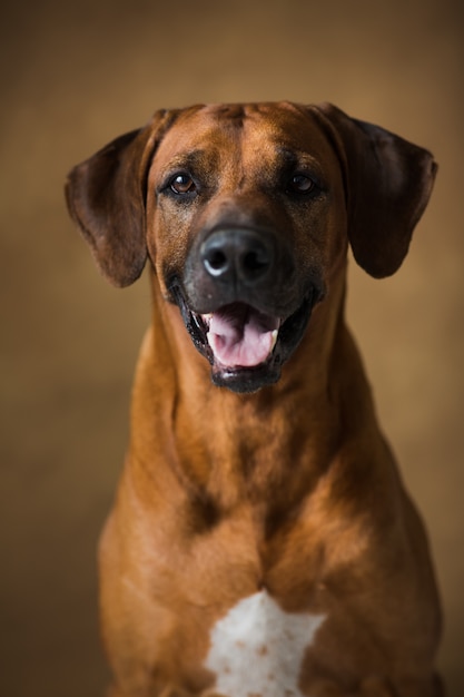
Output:
[[[207,336],[218,363],[251,367],[273,351],[278,325],[278,320],[237,303],[213,313]]]

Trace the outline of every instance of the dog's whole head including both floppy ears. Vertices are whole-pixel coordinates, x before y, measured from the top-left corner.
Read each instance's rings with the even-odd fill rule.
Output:
[[[213,379],[276,382],[347,244],[376,277],[402,264],[433,185],[426,150],[330,105],[159,111],[78,165],[68,206],[103,274],[147,255]]]

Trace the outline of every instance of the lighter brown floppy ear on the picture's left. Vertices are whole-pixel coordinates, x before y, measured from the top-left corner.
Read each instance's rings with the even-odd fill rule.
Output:
[[[68,176],[69,213],[103,275],[119,287],[144,271],[148,169],[172,118],[174,112],[157,111],[145,128],[116,138]]]

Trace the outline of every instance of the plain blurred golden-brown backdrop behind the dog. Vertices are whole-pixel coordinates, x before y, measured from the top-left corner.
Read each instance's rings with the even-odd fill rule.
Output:
[[[450,0],[18,0],[1,20],[2,697],[93,697],[95,548],[127,442],[147,279],[106,285],[69,222],[75,163],[160,107],[329,100],[441,165],[392,279],[348,314],[426,519],[464,694],[463,31]],[[394,589],[392,589],[394,592]]]

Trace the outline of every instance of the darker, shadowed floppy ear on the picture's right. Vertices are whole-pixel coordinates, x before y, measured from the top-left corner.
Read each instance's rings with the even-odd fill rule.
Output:
[[[432,193],[431,153],[336,107],[316,107],[338,150],[345,179],[348,237],[355,259],[376,278],[394,274]]]

